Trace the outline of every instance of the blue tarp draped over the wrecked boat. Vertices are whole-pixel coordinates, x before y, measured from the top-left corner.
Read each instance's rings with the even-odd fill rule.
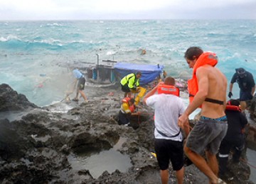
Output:
[[[160,64],[132,64],[124,62],[117,62],[117,64],[114,64],[114,71],[117,73],[117,76],[119,76],[120,79],[127,74],[141,71],[142,77],[139,80],[139,83],[142,86],[154,81],[154,79],[161,74],[163,69],[164,66]]]

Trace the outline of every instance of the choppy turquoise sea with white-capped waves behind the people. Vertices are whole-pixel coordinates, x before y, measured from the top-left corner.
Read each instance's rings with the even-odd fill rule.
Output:
[[[256,20],[1,21],[0,84],[50,105],[65,95],[65,64],[96,63],[99,54],[100,61],[164,64],[179,77],[191,74],[183,58],[191,46],[218,54],[228,81],[238,67],[256,76]]]

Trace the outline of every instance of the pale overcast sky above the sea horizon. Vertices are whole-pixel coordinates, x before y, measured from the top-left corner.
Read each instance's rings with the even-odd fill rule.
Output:
[[[255,0],[0,0],[0,20],[256,19]]]

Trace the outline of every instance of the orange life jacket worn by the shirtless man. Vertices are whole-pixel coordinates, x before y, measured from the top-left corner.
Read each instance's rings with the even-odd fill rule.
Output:
[[[196,60],[196,64],[193,67],[192,79],[188,80],[188,94],[189,94],[189,102],[193,101],[193,97],[196,96],[198,92],[198,82],[196,78],[196,70],[203,65],[209,64],[212,67],[218,63],[218,57],[213,52],[204,52],[200,57]]]

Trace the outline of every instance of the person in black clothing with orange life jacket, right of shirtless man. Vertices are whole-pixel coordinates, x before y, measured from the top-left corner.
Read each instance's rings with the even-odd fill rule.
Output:
[[[238,163],[242,149],[245,147],[245,126],[247,118],[241,112],[239,100],[229,100],[226,106],[225,114],[228,117],[228,132],[220,144],[218,154],[219,175],[220,178],[226,176],[228,156],[230,150],[234,149],[233,162]]]

